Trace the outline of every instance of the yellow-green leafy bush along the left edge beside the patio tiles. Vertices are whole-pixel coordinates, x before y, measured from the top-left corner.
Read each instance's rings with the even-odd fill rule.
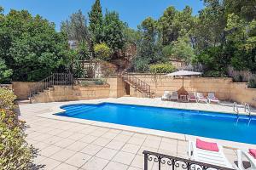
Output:
[[[15,95],[8,89],[0,92],[0,169],[31,169],[36,152],[26,143],[25,122],[14,111]]]

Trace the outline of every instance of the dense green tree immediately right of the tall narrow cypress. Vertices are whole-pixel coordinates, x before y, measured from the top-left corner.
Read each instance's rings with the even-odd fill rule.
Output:
[[[119,20],[119,14],[107,11],[104,18],[103,42],[106,42],[113,52],[125,47],[124,30],[125,24]]]

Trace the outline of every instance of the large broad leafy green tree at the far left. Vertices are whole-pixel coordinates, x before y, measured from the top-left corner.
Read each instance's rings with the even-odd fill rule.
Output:
[[[11,10],[0,22],[0,56],[14,81],[39,81],[67,65],[67,37],[26,10]]]

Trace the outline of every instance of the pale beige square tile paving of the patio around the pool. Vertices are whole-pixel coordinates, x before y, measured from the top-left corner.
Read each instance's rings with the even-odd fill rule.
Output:
[[[117,100],[127,104],[129,102],[134,103],[133,98]],[[231,107],[204,104],[180,105],[157,99],[143,99],[143,101],[150,103],[150,105],[200,107],[216,111],[232,109]],[[29,144],[33,144],[35,148],[40,150],[38,157],[33,161],[38,165],[44,163],[44,169],[142,170],[143,150],[188,158],[188,142],[184,140],[75,122],[63,122],[37,116],[49,112],[53,106],[68,103],[20,105],[20,119],[25,120],[26,124],[29,125],[26,128],[28,134],[26,139]],[[172,138],[177,138],[177,134],[174,133]],[[224,148],[224,154],[231,163],[236,161],[236,150]],[[148,169],[157,169],[154,167],[157,167],[155,163],[153,165],[153,162],[148,162]]]

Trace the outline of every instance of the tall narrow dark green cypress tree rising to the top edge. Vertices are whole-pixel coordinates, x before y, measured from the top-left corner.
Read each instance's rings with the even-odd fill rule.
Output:
[[[96,2],[92,5],[91,10],[89,12],[89,20],[89,30],[92,34],[93,42],[102,42],[103,14],[100,0],[96,0]]]

